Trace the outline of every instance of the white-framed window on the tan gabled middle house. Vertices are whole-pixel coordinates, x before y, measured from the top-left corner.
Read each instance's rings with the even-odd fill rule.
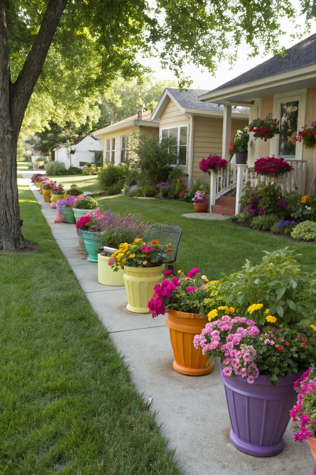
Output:
[[[169,157],[171,165],[186,166],[188,149],[188,126],[178,125],[162,129],[162,137],[169,138]]]

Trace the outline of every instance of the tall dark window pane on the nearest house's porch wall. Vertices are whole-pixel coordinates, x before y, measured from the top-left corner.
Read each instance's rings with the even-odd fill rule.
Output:
[[[298,130],[298,101],[281,102],[278,155],[295,158],[296,142],[291,137]]]

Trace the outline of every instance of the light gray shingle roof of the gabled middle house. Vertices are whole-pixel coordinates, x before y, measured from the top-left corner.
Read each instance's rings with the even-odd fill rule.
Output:
[[[208,89],[188,89],[187,91],[181,91],[173,87],[166,88],[170,94],[179,102],[179,104],[186,109],[205,109],[211,111],[222,111],[224,106],[222,104],[213,104],[212,102],[204,102],[199,100],[199,96],[206,94]],[[240,114],[249,114],[249,107],[234,108],[232,112]]]

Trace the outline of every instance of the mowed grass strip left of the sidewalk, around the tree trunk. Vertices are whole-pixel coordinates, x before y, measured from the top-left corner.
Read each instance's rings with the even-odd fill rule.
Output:
[[[180,475],[33,194],[19,197],[39,247],[0,252],[0,473]]]

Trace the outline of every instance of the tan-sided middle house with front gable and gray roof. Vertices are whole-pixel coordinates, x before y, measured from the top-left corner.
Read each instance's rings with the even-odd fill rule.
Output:
[[[199,162],[208,155],[222,155],[226,138],[229,141],[230,135],[248,124],[248,107],[236,106],[231,115],[229,136],[224,136],[224,106],[199,100],[199,96],[207,92],[167,87],[152,114],[152,120],[159,120],[160,136],[177,140],[177,144],[170,147],[170,154],[173,163],[183,168],[182,181],[188,187],[196,179],[209,181],[209,176],[199,170]]]

